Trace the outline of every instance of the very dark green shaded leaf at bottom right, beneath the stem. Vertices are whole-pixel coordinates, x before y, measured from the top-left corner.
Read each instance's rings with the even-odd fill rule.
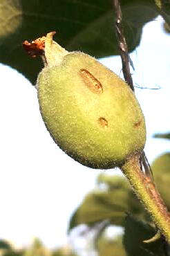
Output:
[[[155,229],[131,215],[127,215],[124,230],[124,248],[129,256],[164,256],[162,240],[144,243],[155,235]]]

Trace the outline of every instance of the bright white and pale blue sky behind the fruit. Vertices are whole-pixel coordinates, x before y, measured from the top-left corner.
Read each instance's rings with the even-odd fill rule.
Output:
[[[144,27],[140,46],[131,54],[134,82],[162,89],[135,89],[147,123],[149,161],[170,151],[168,140],[152,134],[170,131],[170,35],[162,21]],[[120,57],[102,60],[120,73]],[[0,237],[17,245],[39,237],[55,247],[66,242],[68,220],[83,196],[94,188],[100,170],[66,156],[41,120],[36,89],[16,71],[0,65]],[[114,170],[109,170],[114,173]]]

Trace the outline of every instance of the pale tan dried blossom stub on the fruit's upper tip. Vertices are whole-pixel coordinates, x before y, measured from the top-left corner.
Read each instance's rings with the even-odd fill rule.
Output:
[[[45,39],[45,60],[48,67],[59,65],[63,57],[68,54],[68,51],[53,41],[53,35],[55,31],[48,33]]]

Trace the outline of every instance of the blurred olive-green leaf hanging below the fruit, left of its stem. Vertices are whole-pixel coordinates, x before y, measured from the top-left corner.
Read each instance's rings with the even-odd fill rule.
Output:
[[[108,181],[110,177],[110,181]],[[129,183],[122,176],[99,176],[98,185],[102,181],[109,184],[108,190],[94,191],[87,194],[70,219],[68,231],[79,225],[86,223],[94,225],[97,221],[109,219],[113,225],[124,225],[126,212],[131,212],[138,217],[146,217],[143,205],[132,192]]]

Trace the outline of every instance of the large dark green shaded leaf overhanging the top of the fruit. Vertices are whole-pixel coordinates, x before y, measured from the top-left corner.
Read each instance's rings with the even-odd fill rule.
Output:
[[[156,17],[153,0],[122,0],[123,25],[129,51],[140,43],[142,27]],[[161,12],[167,15],[166,8]],[[167,17],[167,16],[166,16]],[[34,40],[56,30],[56,40],[68,51],[95,57],[117,55],[112,1],[0,0],[0,60],[16,68],[33,84],[41,61],[23,51],[24,40]]]

